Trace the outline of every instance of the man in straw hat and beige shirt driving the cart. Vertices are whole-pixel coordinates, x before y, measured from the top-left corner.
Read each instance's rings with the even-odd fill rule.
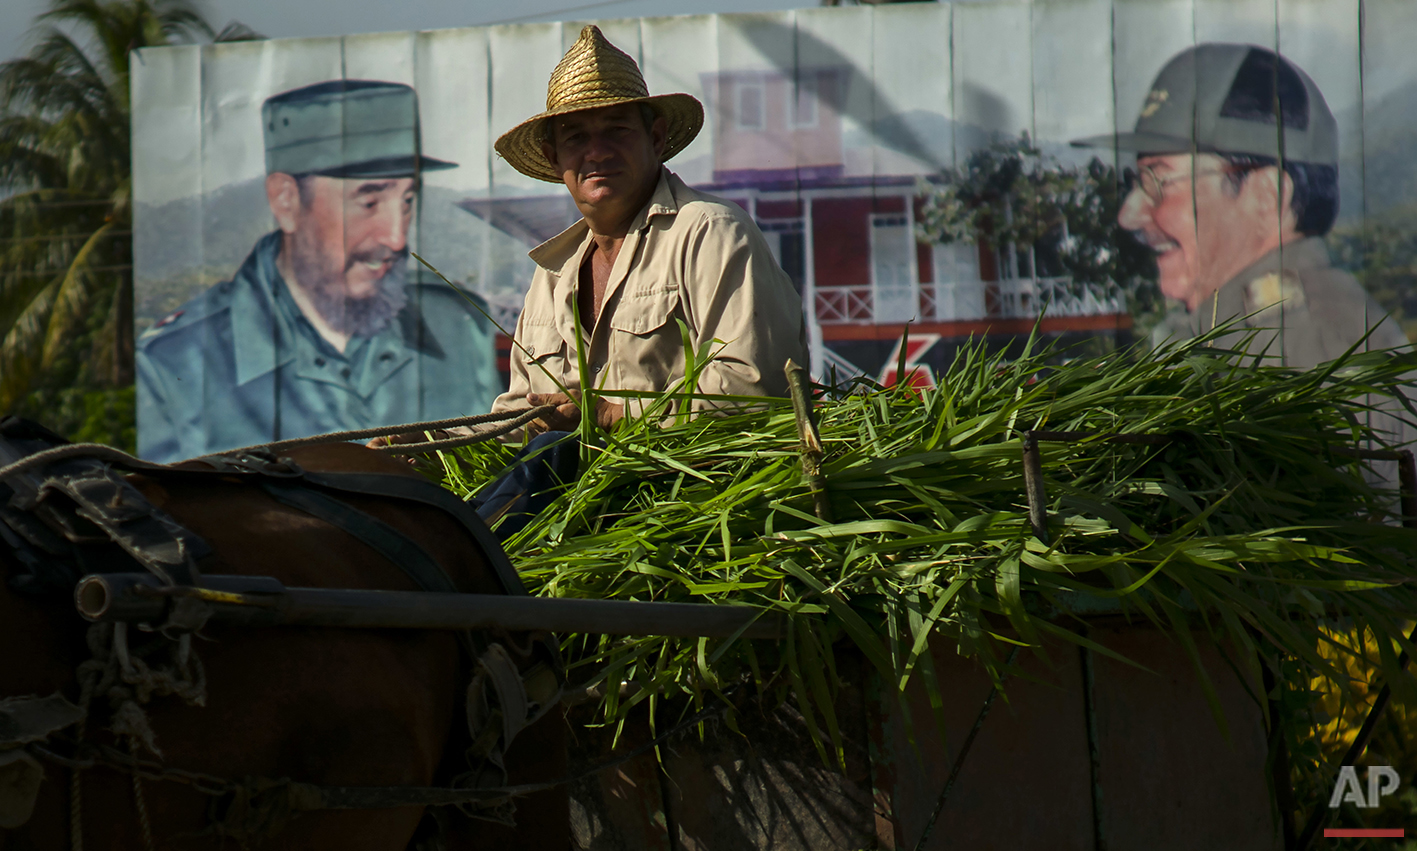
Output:
[[[577,347],[597,388],[662,392],[684,378],[680,323],[694,351],[711,345],[699,392],[786,394],[782,367],[806,362],[792,282],[741,208],[663,166],[701,126],[699,101],[650,96],[635,61],[585,27],[551,74],[546,112],[497,139],[516,170],[564,183],[584,218],[531,251],[537,269],[512,382],[493,411],[558,405],[533,430],[575,428]],[[612,428],[643,406],[642,398],[601,396],[595,419]]]

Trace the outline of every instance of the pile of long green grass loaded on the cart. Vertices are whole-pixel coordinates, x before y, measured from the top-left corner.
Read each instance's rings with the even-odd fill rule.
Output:
[[[1374,408],[1397,405],[1417,362],[1353,354],[1299,372],[1209,343],[1064,365],[1050,365],[1056,351],[1006,360],[971,347],[935,388],[833,388],[816,405],[833,522],[813,513],[786,401],[672,416],[704,361],[691,358],[686,387],[585,447],[580,480],[507,552],[536,595],[788,615],[782,641],[572,636],[568,650],[592,681],[643,687],[623,701],[604,690],[606,718],[752,681],[791,692],[823,743],[839,742],[843,639],[884,682],[904,690],[918,675],[937,695],[931,636],[996,680],[1015,646],[1046,637],[1111,654],[1066,615],[1100,598],[1192,654],[1196,641],[1238,651],[1255,682],[1260,660],[1278,657],[1346,677],[1318,653],[1325,615],[1406,647],[1417,531],[1396,522],[1396,464],[1343,450],[1382,445]],[[1169,439],[1043,442],[1044,542],[1024,496],[1030,429]],[[468,496],[516,449],[446,453],[444,483]],[[1372,484],[1374,470],[1393,484]],[[1410,692],[1396,658],[1383,661]]]

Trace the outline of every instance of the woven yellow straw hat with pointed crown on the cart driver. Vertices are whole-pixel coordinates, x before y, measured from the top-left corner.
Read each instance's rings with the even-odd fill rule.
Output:
[[[565,51],[546,86],[546,112],[529,118],[497,139],[497,153],[513,169],[547,183],[561,183],[541,153],[541,122],[568,112],[649,103],[669,125],[665,160],[684,150],[704,125],[704,108],[693,95],[649,95],[639,65],[605,40],[599,27],[585,27]]]

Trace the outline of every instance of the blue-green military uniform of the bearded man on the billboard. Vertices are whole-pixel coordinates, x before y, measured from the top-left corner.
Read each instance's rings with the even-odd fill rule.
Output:
[[[340,354],[290,297],[279,251],[276,231],[231,280],[139,340],[145,459],[490,409],[500,391],[493,330],[463,295],[441,280],[410,283],[394,321]]]

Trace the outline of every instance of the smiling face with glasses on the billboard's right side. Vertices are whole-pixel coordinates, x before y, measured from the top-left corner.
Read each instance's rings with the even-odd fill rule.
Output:
[[[1136,166],[1153,178],[1132,188],[1117,219],[1156,252],[1168,297],[1195,310],[1280,245],[1277,170],[1253,171],[1236,188],[1214,154],[1142,156]]]

